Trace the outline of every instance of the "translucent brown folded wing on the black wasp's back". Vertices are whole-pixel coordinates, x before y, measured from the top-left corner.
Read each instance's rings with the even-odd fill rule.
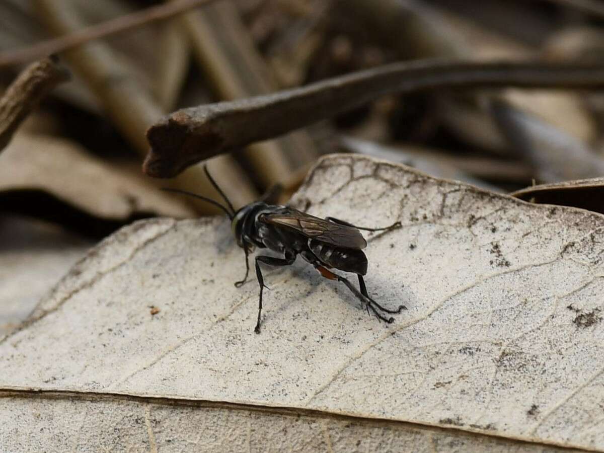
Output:
[[[260,220],[273,225],[288,226],[306,237],[338,247],[362,249],[367,246],[367,241],[354,226],[329,222],[291,208],[278,213],[264,214]]]

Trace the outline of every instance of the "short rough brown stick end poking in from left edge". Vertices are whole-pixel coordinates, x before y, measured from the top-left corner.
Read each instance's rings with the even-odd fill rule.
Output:
[[[69,72],[56,57],[32,63],[19,74],[0,98],[0,151],[40,100],[66,80]]]

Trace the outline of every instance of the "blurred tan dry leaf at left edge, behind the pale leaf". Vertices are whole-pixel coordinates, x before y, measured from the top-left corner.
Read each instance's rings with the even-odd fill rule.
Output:
[[[83,222],[83,233],[133,218],[194,215],[142,176],[123,174],[71,141],[25,134],[0,155],[0,200],[56,222]]]

